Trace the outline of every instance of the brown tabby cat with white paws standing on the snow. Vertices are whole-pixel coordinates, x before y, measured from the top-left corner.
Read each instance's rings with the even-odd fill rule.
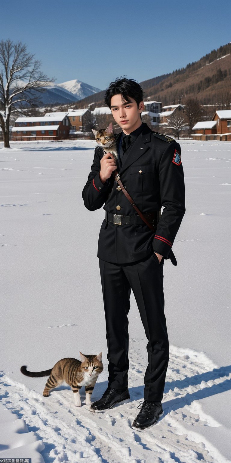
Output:
[[[74,393],[74,404],[81,407],[79,389],[85,386],[86,399],[85,404],[91,405],[91,394],[93,392],[98,375],[103,371],[102,352],[98,355],[83,355],[80,353],[80,360],[76,358],[62,358],[55,366],[45,371],[28,371],[26,366],[21,367],[23,375],[39,378],[48,376],[43,396],[48,397],[49,391],[66,382],[71,386]]]

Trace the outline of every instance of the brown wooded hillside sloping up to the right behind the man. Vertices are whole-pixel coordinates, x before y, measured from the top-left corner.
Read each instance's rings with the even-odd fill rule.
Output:
[[[145,91],[145,100],[162,101],[167,104],[184,103],[188,97],[197,97],[201,104],[225,104],[231,93],[231,43],[220,46],[200,60],[140,82]],[[104,106],[105,91],[78,101],[78,107],[91,103]]]

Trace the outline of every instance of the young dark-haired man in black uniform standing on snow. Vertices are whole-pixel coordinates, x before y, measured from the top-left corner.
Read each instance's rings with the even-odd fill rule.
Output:
[[[106,211],[98,242],[108,343],[109,384],[91,411],[100,412],[129,398],[128,311],[133,290],[148,339],[148,366],[144,377],[144,402],[133,427],[154,425],[163,409],[161,400],[169,360],[164,316],[163,265],[171,250],[185,212],[184,178],[180,145],[170,137],[152,132],[141,121],[143,91],[133,79],[110,83],[105,103],[122,128],[117,136],[118,161],[95,149],[91,173],[83,190],[85,207]],[[117,186],[122,183],[152,231]],[[164,207],[160,215],[161,207]]]

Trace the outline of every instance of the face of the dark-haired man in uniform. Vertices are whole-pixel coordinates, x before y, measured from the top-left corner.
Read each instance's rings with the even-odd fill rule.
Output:
[[[111,113],[116,123],[122,128],[126,134],[138,129],[142,124],[140,113],[144,109],[144,102],[140,101],[139,108],[133,98],[129,98],[129,102],[122,101],[122,95],[114,95],[111,97]]]

